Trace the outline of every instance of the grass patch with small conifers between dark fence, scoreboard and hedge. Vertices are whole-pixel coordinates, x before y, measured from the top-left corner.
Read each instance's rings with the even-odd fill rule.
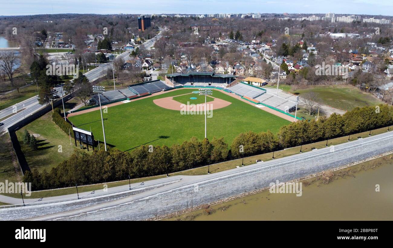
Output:
[[[63,160],[68,159],[75,148],[74,141],[72,140],[70,145],[70,137],[51,118],[52,111],[17,131],[18,140],[31,170],[33,168],[50,170]],[[30,134],[40,135],[37,137],[39,142],[37,150],[32,150],[29,146],[23,144],[25,129]],[[59,145],[62,148],[61,152],[59,151]]]

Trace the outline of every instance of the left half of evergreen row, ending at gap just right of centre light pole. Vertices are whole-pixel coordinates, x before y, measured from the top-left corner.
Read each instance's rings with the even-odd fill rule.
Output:
[[[26,171],[25,182],[33,190],[44,190],[99,182],[160,175],[223,161],[228,157],[224,139],[202,141],[195,137],[181,145],[140,146],[131,152],[118,149],[95,150],[91,155],[75,150],[68,160],[50,171]]]

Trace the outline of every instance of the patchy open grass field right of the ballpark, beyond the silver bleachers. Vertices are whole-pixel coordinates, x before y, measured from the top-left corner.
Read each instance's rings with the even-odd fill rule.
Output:
[[[382,103],[378,98],[352,86],[314,86],[307,89],[297,89],[292,93],[299,93],[301,97],[301,94],[309,91],[317,93],[321,99],[321,103],[343,110],[352,110],[355,107],[375,106]]]

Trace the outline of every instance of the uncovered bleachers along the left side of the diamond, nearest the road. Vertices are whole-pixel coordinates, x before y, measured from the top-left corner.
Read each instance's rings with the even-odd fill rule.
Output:
[[[122,100],[126,98],[132,98],[144,93],[155,93],[170,88],[171,87],[167,86],[160,80],[154,80],[143,84],[138,84],[135,86],[128,86],[127,89],[112,90],[100,94],[101,104]],[[98,95],[93,95],[92,99],[94,100],[95,104],[99,104]]]

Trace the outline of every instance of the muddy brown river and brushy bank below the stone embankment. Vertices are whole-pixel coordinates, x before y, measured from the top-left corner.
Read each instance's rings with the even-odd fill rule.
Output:
[[[392,220],[392,173],[389,154],[295,180],[303,185],[302,197],[264,188],[173,213],[164,220]],[[381,192],[375,190],[376,184]]]

